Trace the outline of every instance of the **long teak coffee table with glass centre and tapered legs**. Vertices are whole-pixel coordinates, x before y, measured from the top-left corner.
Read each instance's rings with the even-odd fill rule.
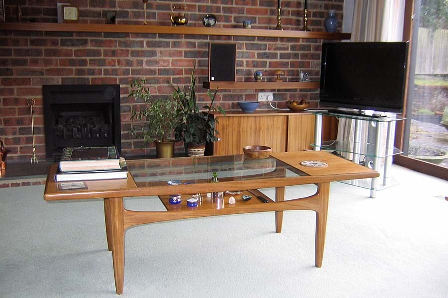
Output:
[[[302,161],[322,161],[326,167],[306,167]],[[127,179],[85,181],[85,190],[58,190],[54,181],[57,165],[51,166],[45,186],[45,200],[104,199],[104,215],[108,249],[112,251],[116,293],[124,286],[124,233],[131,226],[186,218],[225,214],[275,211],[275,230],[281,232],[284,210],[314,210],[316,212],[315,265],[322,266],[330,182],[373,178],[379,174],[322,151],[273,153],[268,159],[250,159],[244,155],[206,156],[199,158],[171,158],[131,160],[127,162]],[[218,172],[218,183],[210,183],[212,172]],[[168,180],[182,180],[180,185],[168,185]],[[316,184],[317,191],[306,198],[284,201],[285,186]],[[259,192],[260,188],[275,188],[275,200]],[[250,190],[253,198],[242,201],[234,195],[235,204],[212,203],[208,192]],[[203,195],[198,207],[187,207],[186,198],[180,205],[168,203],[170,194]],[[124,197],[157,195],[166,211],[132,211],[123,207]],[[268,199],[263,203],[256,198]]]

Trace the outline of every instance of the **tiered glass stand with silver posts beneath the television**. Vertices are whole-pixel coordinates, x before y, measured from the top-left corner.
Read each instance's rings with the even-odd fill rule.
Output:
[[[370,190],[370,197],[376,197],[376,191],[397,184],[391,176],[392,158],[402,151],[394,147],[395,124],[406,118],[387,113],[386,117],[370,117],[364,115],[338,114],[336,111],[313,111],[315,115],[314,150],[329,150],[364,164],[380,173],[378,178],[341,181],[350,185]],[[346,118],[354,121],[353,141],[322,141],[322,117],[330,116],[338,119]],[[363,130],[363,123],[368,123],[368,131]],[[364,125],[365,127],[365,125]],[[364,139],[364,142],[362,141]]]

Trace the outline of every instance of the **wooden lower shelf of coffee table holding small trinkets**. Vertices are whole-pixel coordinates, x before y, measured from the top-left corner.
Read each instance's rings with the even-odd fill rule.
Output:
[[[214,209],[224,209],[224,208],[234,208],[234,207],[243,207],[247,206],[249,209],[251,206],[259,205],[259,204],[267,204],[261,202],[259,199],[257,199],[256,196],[262,196],[263,198],[267,199],[270,202],[272,201],[268,196],[263,194],[261,191],[252,189],[252,190],[245,190],[239,195],[229,195],[227,193],[224,193],[224,203],[221,204],[221,202],[212,202],[210,197],[207,197],[206,194],[203,195],[202,201],[198,202],[197,207],[188,207],[187,206],[187,199],[191,198],[191,194],[182,195],[182,202],[179,204],[170,204],[169,203],[169,196],[159,196],[160,200],[162,201],[163,205],[165,205],[165,208],[168,211],[190,211],[190,210],[214,210]],[[241,199],[242,195],[251,195],[252,198],[249,201],[243,201]],[[233,196],[236,200],[235,204],[229,204],[228,199]]]

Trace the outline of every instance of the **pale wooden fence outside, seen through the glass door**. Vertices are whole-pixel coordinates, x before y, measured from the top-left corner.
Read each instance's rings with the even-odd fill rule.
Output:
[[[448,74],[447,29],[419,28],[415,73]]]

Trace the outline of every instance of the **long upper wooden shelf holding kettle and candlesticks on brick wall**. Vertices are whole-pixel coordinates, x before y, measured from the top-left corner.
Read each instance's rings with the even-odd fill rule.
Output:
[[[1,31],[60,31],[60,32],[113,32],[113,33],[162,33],[187,35],[224,35],[315,39],[350,39],[351,33],[327,33],[275,29],[175,27],[154,25],[110,25],[69,23],[1,23]]]

